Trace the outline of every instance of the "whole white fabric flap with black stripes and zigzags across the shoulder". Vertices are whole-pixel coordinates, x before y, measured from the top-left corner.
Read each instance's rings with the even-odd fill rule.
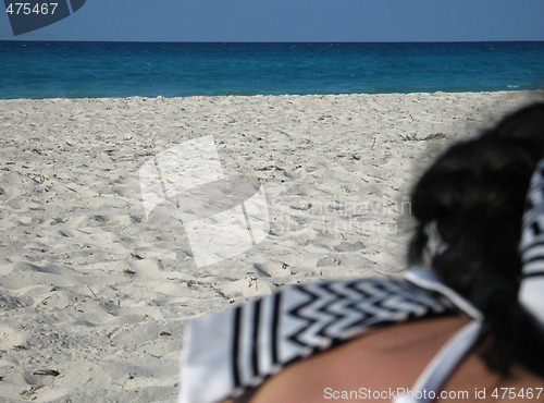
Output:
[[[189,323],[181,402],[239,395],[288,363],[371,329],[454,309],[445,296],[400,279],[287,288]]]

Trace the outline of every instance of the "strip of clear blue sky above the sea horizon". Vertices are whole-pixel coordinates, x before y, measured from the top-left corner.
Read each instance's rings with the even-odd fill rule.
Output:
[[[0,40],[544,40],[543,0],[87,0],[16,37],[1,10]]]

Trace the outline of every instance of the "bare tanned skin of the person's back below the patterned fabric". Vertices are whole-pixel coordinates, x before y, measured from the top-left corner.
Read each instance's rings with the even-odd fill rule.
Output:
[[[388,395],[386,399],[371,399],[372,395],[361,399],[353,395],[354,400],[349,400],[341,399],[341,393],[359,391],[361,388],[366,388],[367,393],[369,390],[382,392],[411,388],[444,343],[469,321],[466,317],[457,316],[412,321],[375,330],[336,349],[287,366],[259,387],[249,401],[252,403],[391,402]],[[518,393],[522,388],[527,390],[530,387],[544,388],[544,379],[517,365],[512,366],[508,377],[502,376],[487,369],[475,353],[469,353],[442,388],[446,392],[468,394],[462,399],[436,401],[515,402],[520,399],[509,396],[508,392]],[[496,388],[515,389],[505,391]],[[327,394],[325,390],[329,391]],[[493,396],[495,390],[498,395]],[[535,395],[532,399],[526,398],[522,401],[544,401],[544,390],[539,399],[536,398],[539,391],[533,390],[533,392]],[[502,399],[503,394],[505,399]]]

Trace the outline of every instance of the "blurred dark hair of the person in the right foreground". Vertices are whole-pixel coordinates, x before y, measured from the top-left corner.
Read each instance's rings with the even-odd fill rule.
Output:
[[[503,373],[517,362],[544,376],[543,328],[518,303],[521,220],[542,158],[544,103],[536,103],[447,149],[411,195],[418,225],[410,264],[430,264],[483,313],[479,350],[491,368]],[[432,257],[425,253],[430,223],[447,245]]]

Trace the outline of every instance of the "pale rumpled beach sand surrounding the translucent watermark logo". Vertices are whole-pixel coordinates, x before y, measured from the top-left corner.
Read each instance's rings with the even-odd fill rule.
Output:
[[[1,100],[0,400],[174,402],[188,320],[288,284],[401,276],[417,175],[543,96]],[[268,213],[265,236],[209,265],[140,186],[148,161],[206,136]]]

